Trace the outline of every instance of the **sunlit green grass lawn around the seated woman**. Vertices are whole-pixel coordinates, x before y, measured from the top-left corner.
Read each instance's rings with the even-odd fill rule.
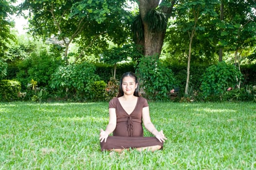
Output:
[[[256,169],[255,103],[149,105],[163,150],[109,154],[99,141],[107,102],[0,103],[0,170]]]

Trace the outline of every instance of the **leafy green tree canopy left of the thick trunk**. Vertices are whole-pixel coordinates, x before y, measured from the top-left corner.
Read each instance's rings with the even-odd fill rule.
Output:
[[[108,40],[126,42],[130,15],[125,6],[125,0],[25,0],[21,9],[29,10],[30,32],[63,41],[68,63],[72,41],[80,45],[79,57],[108,48]]]

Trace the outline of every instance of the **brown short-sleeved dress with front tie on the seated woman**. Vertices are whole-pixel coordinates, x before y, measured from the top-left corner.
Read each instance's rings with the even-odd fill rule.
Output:
[[[114,98],[109,102],[109,108],[116,109],[117,126],[113,132],[113,136],[108,136],[106,142],[101,142],[102,151],[155,145],[163,147],[163,142],[160,142],[156,137],[143,137],[143,107],[148,107],[148,102],[145,98],[139,97],[135,109],[129,115],[121,106],[118,98]]]

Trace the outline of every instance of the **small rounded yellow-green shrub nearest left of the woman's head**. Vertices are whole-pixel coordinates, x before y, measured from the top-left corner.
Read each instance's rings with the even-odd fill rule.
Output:
[[[91,87],[93,101],[104,101],[104,92],[106,89],[106,83],[104,81],[96,81]]]

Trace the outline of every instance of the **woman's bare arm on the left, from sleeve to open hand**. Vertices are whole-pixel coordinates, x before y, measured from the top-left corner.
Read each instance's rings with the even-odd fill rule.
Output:
[[[109,108],[109,121],[108,121],[108,125],[106,127],[106,130],[103,131],[103,129],[101,129],[101,133],[100,133],[100,140],[101,142],[104,140],[105,142],[107,141],[107,137],[109,136],[109,134],[111,134],[117,126],[117,115],[116,115],[116,109],[115,108]]]

